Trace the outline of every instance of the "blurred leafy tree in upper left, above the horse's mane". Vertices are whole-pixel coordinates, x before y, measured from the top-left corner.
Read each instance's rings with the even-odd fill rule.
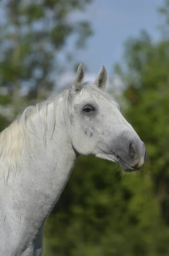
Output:
[[[0,83],[11,93],[14,114],[20,111],[20,92],[40,101],[52,90],[60,70],[57,59],[70,35],[83,47],[92,30],[86,20],[73,23],[69,15],[83,11],[90,0],[1,1]],[[70,54],[68,54],[70,56]],[[52,72],[55,72],[54,79]]]

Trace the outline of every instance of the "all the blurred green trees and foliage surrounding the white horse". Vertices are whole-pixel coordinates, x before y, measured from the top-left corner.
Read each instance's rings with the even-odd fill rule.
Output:
[[[51,95],[68,63],[77,67],[67,38],[74,36],[78,51],[93,32],[88,20],[69,16],[91,2],[0,1],[1,129]],[[158,12],[160,40],[145,30],[127,39],[123,65],[112,71],[124,85],[121,111],[146,144],[146,163],[126,175],[105,160],[80,157],[46,222],[43,256],[169,255],[169,0]]]

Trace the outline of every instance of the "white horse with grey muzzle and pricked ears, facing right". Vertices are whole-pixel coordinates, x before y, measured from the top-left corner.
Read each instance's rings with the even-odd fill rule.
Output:
[[[146,149],[117,102],[104,93],[102,67],[83,83],[27,108],[0,134],[0,256],[40,256],[43,228],[77,157],[95,155],[132,172]]]

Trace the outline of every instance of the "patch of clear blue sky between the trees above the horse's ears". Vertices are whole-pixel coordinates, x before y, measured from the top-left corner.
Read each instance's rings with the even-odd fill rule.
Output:
[[[75,58],[84,62],[90,73],[97,73],[102,65],[110,73],[112,65],[122,60],[123,43],[129,36],[137,36],[141,29],[146,29],[158,40],[157,8],[162,4],[163,0],[93,0],[85,13],[72,15],[73,20],[89,20],[94,30],[86,49],[76,51]],[[72,44],[70,38],[69,49]]]

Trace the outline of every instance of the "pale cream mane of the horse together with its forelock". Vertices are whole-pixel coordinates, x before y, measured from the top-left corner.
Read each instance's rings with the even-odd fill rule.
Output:
[[[73,85],[74,86],[74,85]],[[23,145],[29,143],[30,133],[34,133],[34,124],[32,123],[32,115],[37,113],[41,128],[42,128],[42,140],[44,145],[46,145],[47,133],[49,131],[47,124],[47,114],[49,103],[53,103],[53,121],[50,129],[52,130],[52,135],[54,132],[54,127],[57,119],[57,105],[60,97],[64,101],[64,119],[65,123],[69,122],[69,101],[72,97],[76,96],[77,93],[82,93],[83,91],[89,93],[90,97],[93,99],[106,99],[108,101],[115,101],[112,97],[96,87],[92,82],[83,83],[80,90],[73,90],[72,87],[69,89],[63,90],[59,95],[51,96],[49,99],[46,99],[42,103],[38,103],[35,106],[29,106],[23,111],[20,116],[14,120],[7,128],[5,128],[0,133],[0,178],[2,177],[3,172],[7,171],[9,175],[10,170],[14,172],[20,171],[21,163],[21,153]],[[29,128],[28,128],[29,126]],[[52,128],[51,128],[52,127]]]

